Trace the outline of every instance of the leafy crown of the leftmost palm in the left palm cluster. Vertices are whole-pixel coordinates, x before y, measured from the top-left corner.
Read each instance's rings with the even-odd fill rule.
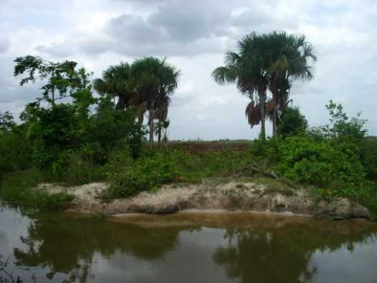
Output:
[[[121,63],[116,66],[110,66],[104,71],[101,79],[95,79],[94,88],[101,95],[117,97],[118,101],[115,109],[124,110],[132,104],[131,77],[130,64]]]

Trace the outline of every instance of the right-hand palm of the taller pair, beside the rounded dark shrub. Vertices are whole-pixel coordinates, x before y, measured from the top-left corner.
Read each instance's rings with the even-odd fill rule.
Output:
[[[269,90],[274,101],[271,113],[273,135],[278,131],[278,112],[287,109],[289,90],[294,79],[313,79],[313,65],[317,61],[313,45],[304,35],[271,32],[263,35],[265,56],[269,61]]]

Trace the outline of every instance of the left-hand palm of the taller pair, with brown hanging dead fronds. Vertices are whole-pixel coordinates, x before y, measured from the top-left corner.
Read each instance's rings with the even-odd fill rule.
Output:
[[[221,85],[235,83],[240,93],[250,98],[245,111],[247,119],[252,127],[260,123],[260,133],[265,137],[269,77],[263,44],[263,38],[255,32],[247,34],[238,42],[239,52],[228,52],[225,66],[217,67],[212,77]]]

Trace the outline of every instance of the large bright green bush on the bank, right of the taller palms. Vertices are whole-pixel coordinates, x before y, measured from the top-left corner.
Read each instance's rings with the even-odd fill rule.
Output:
[[[332,144],[331,140],[292,136],[281,144],[280,160],[286,177],[315,186],[335,180],[358,184],[365,177],[358,148],[352,143]]]

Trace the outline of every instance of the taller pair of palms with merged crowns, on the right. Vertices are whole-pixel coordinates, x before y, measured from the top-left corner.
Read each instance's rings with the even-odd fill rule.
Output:
[[[278,125],[278,110],[287,108],[291,79],[312,79],[311,62],[315,62],[313,46],[305,36],[271,32],[247,34],[238,42],[238,52],[228,52],[226,66],[212,72],[219,84],[236,83],[243,95],[250,97],[245,114],[253,127],[261,124],[265,136],[265,117],[273,122],[273,134]],[[267,89],[272,99],[267,99]],[[256,94],[256,97],[254,95]]]

